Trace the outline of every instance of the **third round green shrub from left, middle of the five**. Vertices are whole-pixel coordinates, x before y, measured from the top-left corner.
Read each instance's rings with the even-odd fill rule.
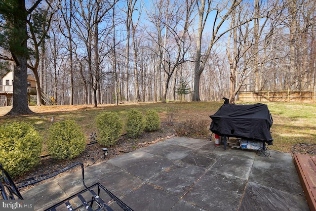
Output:
[[[114,145],[123,130],[123,121],[117,113],[103,112],[96,117],[101,145]]]

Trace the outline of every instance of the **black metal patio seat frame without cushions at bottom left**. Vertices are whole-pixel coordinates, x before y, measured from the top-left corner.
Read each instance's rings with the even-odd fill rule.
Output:
[[[36,184],[45,179],[52,178],[62,172],[65,172],[68,169],[72,169],[76,166],[81,166],[82,171],[82,182],[84,185],[84,189],[79,191],[78,193],[68,197],[67,199],[51,206],[46,209],[46,211],[56,211],[61,207],[68,209],[69,211],[75,210],[88,210],[88,211],[113,211],[113,207],[115,209],[120,209],[124,211],[132,211],[126,204],[124,204],[118,197],[116,197],[113,193],[107,190],[100,183],[95,183],[89,187],[87,187],[84,183],[84,168],[83,164],[78,162],[65,169],[62,169],[52,175],[41,178],[39,180],[29,182],[27,184],[16,187],[10,175],[7,173],[3,166],[0,164],[0,192],[2,200],[23,200],[21,193],[19,192],[19,188],[26,187],[29,185]]]

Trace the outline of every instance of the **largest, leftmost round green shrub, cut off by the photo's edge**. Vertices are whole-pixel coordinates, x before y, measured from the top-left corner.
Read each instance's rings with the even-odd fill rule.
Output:
[[[10,176],[22,175],[39,162],[42,138],[35,128],[24,122],[0,126],[0,163]]]

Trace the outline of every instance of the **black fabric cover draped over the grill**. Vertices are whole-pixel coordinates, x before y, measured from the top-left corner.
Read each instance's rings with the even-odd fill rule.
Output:
[[[270,127],[273,119],[265,104],[224,104],[209,117],[212,119],[209,129],[215,134],[272,144]]]

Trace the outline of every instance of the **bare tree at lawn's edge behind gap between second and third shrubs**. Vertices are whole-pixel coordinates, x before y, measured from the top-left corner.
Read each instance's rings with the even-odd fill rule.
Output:
[[[105,18],[109,15],[108,12],[114,3],[109,1],[79,0],[80,9],[77,10],[76,24],[78,27],[76,27],[75,32],[79,40],[83,42],[86,53],[86,56],[84,55],[83,58],[86,59],[88,65],[88,77],[84,80],[88,85],[88,103],[91,103],[90,92],[92,89],[95,107],[97,107],[98,102],[101,102],[100,83],[103,77],[101,63],[104,56],[108,54],[108,52],[103,52],[103,50],[104,46],[107,45],[106,39],[112,29],[112,22],[108,23],[105,21]],[[102,29],[99,28],[101,24],[103,26]],[[111,26],[108,26],[109,24]]]

